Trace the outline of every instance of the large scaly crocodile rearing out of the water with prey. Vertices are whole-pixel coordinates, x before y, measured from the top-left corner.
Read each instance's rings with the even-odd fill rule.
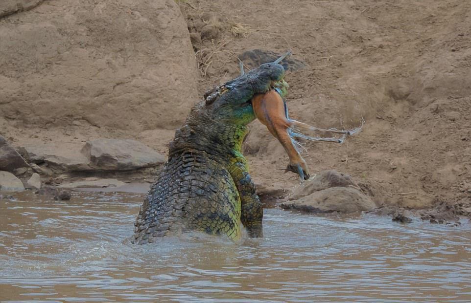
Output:
[[[133,242],[144,244],[186,231],[237,240],[245,227],[263,236],[263,208],[249,174],[242,142],[256,119],[252,99],[287,87],[278,63],[266,63],[214,87],[175,131],[168,160],[135,222]]]

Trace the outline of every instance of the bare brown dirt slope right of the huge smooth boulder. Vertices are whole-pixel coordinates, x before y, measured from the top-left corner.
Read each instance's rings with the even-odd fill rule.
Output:
[[[291,116],[319,127],[366,120],[363,132],[342,146],[307,143],[312,171],[350,173],[378,203],[425,207],[470,199],[470,2],[190,3],[183,5],[188,19],[211,11],[220,29],[212,43],[195,43],[200,53],[220,47],[204,87],[237,74],[234,54],[292,49],[309,67],[287,76]],[[245,32],[235,37],[237,24]],[[287,157],[254,124],[246,151],[256,181],[296,186],[294,175],[273,173]]]

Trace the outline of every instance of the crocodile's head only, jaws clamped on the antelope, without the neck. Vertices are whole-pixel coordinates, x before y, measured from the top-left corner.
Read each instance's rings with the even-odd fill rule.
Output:
[[[256,118],[252,108],[254,95],[265,93],[271,88],[277,88],[281,94],[285,94],[288,85],[283,78],[282,65],[262,64],[234,80],[207,91],[206,109],[212,112],[215,120],[245,126]]]

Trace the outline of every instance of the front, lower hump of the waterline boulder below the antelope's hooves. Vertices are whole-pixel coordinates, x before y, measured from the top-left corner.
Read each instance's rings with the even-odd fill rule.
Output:
[[[372,210],[376,205],[354,188],[331,187],[295,201],[284,202],[281,207],[308,213],[353,213]]]

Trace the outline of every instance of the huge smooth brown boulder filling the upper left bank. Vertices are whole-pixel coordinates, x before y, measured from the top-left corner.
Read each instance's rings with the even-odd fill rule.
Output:
[[[43,1],[13,14],[30,2],[0,1],[0,117],[131,133],[183,123],[199,72],[174,0]]]

